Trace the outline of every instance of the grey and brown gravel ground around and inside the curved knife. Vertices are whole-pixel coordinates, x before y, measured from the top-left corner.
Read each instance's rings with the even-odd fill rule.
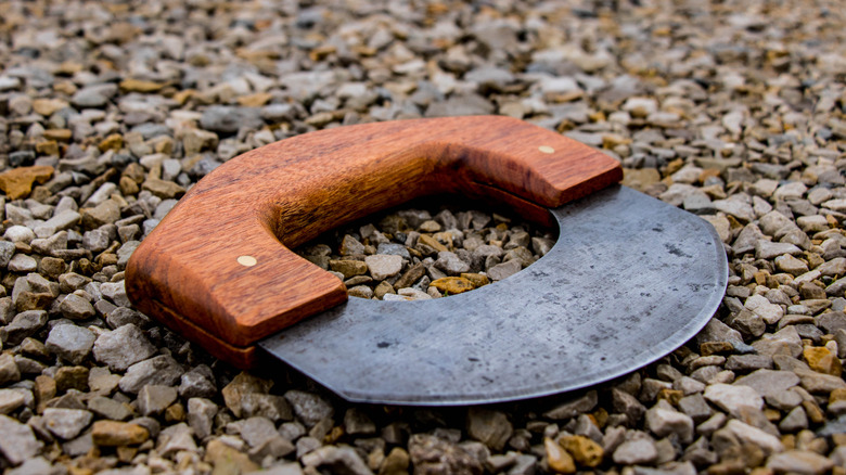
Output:
[[[2,465],[846,474],[844,13],[822,0],[0,3]],[[587,391],[432,410],[240,373],[132,310],[129,255],[220,163],[342,124],[465,114],[601,147],[627,184],[712,222],[730,279],[706,329]],[[405,239],[382,221],[304,252],[358,275],[359,295],[425,298],[453,292],[434,285],[444,277],[479,285],[524,267],[542,254],[533,238],[551,238],[492,215],[474,227],[470,211],[406,210]],[[449,240],[451,254],[434,245]]]

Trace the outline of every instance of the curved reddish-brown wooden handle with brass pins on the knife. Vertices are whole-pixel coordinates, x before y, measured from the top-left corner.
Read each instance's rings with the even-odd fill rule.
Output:
[[[508,117],[307,133],[194,185],[132,255],[127,292],[142,311],[183,319],[189,338],[251,345],[347,298],[337,278],[289,251],[324,231],[441,192],[557,207],[621,176],[611,157]]]

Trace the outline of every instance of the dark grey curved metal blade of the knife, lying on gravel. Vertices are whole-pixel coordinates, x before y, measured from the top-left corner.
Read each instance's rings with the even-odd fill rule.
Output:
[[[351,401],[484,403],[620,376],[717,310],[728,264],[705,220],[619,185],[551,213],[554,247],[503,281],[433,300],[350,298],[259,345]]]

